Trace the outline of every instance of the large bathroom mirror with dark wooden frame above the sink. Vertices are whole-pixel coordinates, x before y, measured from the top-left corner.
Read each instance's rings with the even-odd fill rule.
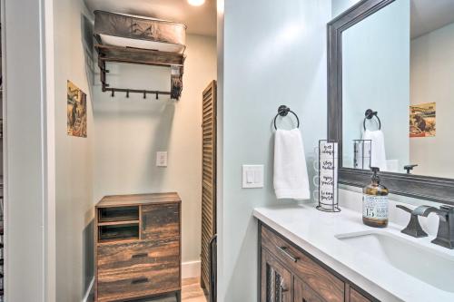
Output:
[[[350,1],[351,3],[351,1]],[[365,0],[328,24],[340,182],[454,204],[454,1]]]

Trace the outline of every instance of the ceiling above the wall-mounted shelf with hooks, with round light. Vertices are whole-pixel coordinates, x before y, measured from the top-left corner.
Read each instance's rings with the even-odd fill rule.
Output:
[[[183,23],[188,34],[216,35],[216,0],[192,6],[186,0],[84,0],[87,7]]]

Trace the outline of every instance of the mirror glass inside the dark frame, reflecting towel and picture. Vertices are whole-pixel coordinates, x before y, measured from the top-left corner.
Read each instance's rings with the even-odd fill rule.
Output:
[[[454,1],[396,0],[342,32],[342,166],[454,178]]]

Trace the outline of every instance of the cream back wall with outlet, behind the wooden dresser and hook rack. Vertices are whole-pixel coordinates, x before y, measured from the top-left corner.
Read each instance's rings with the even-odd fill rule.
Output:
[[[102,93],[94,85],[94,201],[104,195],[177,191],[183,200],[183,262],[200,260],[202,91],[216,79],[216,39],[188,34],[183,94]],[[113,87],[169,91],[169,68],[108,63]],[[156,167],[168,151],[168,167]]]

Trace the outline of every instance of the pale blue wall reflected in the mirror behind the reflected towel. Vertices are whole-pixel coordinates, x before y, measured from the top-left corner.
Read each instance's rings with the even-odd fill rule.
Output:
[[[409,164],[410,0],[399,0],[342,33],[343,163],[353,167],[364,112],[379,112],[386,159]],[[376,130],[377,122],[366,122]],[[373,150],[372,150],[373,152]]]

